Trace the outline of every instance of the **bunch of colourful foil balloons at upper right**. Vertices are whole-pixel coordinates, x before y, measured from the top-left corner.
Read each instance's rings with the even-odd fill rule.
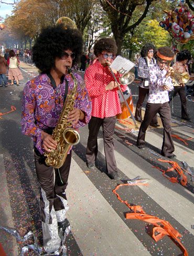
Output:
[[[177,42],[185,44],[190,39],[194,39],[194,15],[184,1],[181,1],[171,11],[163,10],[163,12],[168,17],[165,21],[160,21],[159,25],[172,34]]]

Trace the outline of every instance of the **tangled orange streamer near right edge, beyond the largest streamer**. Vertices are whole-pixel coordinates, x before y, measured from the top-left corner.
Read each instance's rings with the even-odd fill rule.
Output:
[[[165,178],[167,178],[167,179],[170,180],[171,182],[175,182],[175,183],[178,183],[178,178],[177,178],[177,177],[176,177],[176,178],[175,178],[175,177],[169,178],[169,177],[166,176],[165,174],[166,174],[167,172],[170,172],[170,171],[173,171],[173,170],[177,171],[178,174],[179,174],[179,176],[180,176],[180,183],[181,183],[181,185],[186,186],[186,184],[187,184],[187,177],[184,175],[184,173],[183,173],[183,171],[182,171],[182,170],[184,170],[184,169],[181,169],[181,167],[177,164],[177,162],[168,161],[168,160],[162,160],[162,159],[158,159],[158,161],[167,162],[167,163],[171,164],[173,167],[170,168],[170,169],[168,169],[167,171],[162,170],[162,169],[160,169],[159,167],[156,167],[156,166],[152,166],[152,168],[157,168],[158,170],[160,170],[161,172],[163,172],[163,176],[164,176]],[[185,170],[184,170],[184,171],[185,171]]]

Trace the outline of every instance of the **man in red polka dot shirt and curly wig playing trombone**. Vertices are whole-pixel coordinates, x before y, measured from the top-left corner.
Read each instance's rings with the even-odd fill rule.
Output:
[[[117,84],[109,68],[116,52],[117,46],[112,38],[101,38],[94,44],[94,54],[98,60],[85,71],[85,84],[92,100],[92,117],[88,125],[89,137],[86,151],[87,166],[95,169],[98,153],[97,137],[102,126],[106,172],[114,180],[121,179],[114,157],[113,134],[116,115],[122,113],[122,109]],[[119,82],[121,75],[116,70],[113,70],[113,73],[124,92],[127,85]]]

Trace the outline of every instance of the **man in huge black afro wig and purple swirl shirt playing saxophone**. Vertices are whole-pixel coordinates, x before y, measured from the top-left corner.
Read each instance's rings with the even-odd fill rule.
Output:
[[[63,246],[60,234],[64,234],[69,225],[66,218],[69,209],[66,187],[71,149],[59,169],[46,165],[44,153],[57,147],[51,134],[63,104],[68,103],[68,95],[74,87],[68,68],[78,63],[82,45],[82,35],[77,29],[65,29],[63,24],[43,29],[33,47],[33,61],[39,68],[40,75],[28,81],[23,91],[21,127],[22,133],[29,135],[34,141],[44,249],[47,253],[56,255],[59,255]],[[73,76],[78,83],[77,95],[74,109],[68,113],[67,122],[72,122],[72,127],[78,130],[90,121],[91,100],[87,89],[81,86],[81,76],[76,73]]]

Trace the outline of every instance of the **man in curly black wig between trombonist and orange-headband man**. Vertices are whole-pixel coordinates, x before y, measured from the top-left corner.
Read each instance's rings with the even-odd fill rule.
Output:
[[[151,43],[147,43],[142,47],[141,58],[139,58],[138,77],[141,77],[141,84],[139,85],[139,97],[135,110],[135,120],[138,122],[142,122],[142,105],[144,103],[145,96],[149,94],[148,72],[150,67],[154,66],[156,63],[153,57],[155,52],[155,46]],[[150,125],[153,127],[159,126],[157,115],[153,117]]]

